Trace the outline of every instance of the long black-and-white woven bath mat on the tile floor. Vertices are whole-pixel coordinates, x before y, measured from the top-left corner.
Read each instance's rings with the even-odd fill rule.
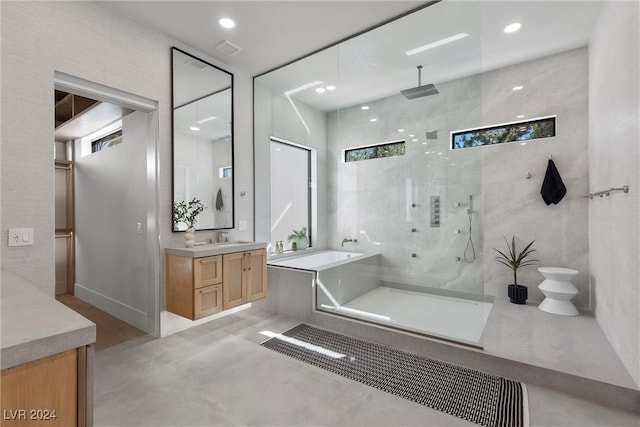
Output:
[[[487,427],[528,427],[524,384],[305,324],[263,346]]]

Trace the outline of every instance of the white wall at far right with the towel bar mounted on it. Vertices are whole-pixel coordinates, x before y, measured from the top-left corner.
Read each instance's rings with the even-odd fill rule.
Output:
[[[589,204],[596,319],[640,384],[639,6],[606,2],[589,55],[589,186],[629,185]]]

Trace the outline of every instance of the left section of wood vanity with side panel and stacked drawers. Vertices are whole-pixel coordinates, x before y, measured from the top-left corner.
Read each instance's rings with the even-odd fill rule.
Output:
[[[222,256],[167,255],[167,310],[195,320],[222,311]]]

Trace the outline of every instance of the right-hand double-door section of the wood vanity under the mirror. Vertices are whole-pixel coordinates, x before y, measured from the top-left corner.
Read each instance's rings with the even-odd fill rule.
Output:
[[[264,249],[225,254],[223,302],[225,310],[267,294],[267,253]]]

